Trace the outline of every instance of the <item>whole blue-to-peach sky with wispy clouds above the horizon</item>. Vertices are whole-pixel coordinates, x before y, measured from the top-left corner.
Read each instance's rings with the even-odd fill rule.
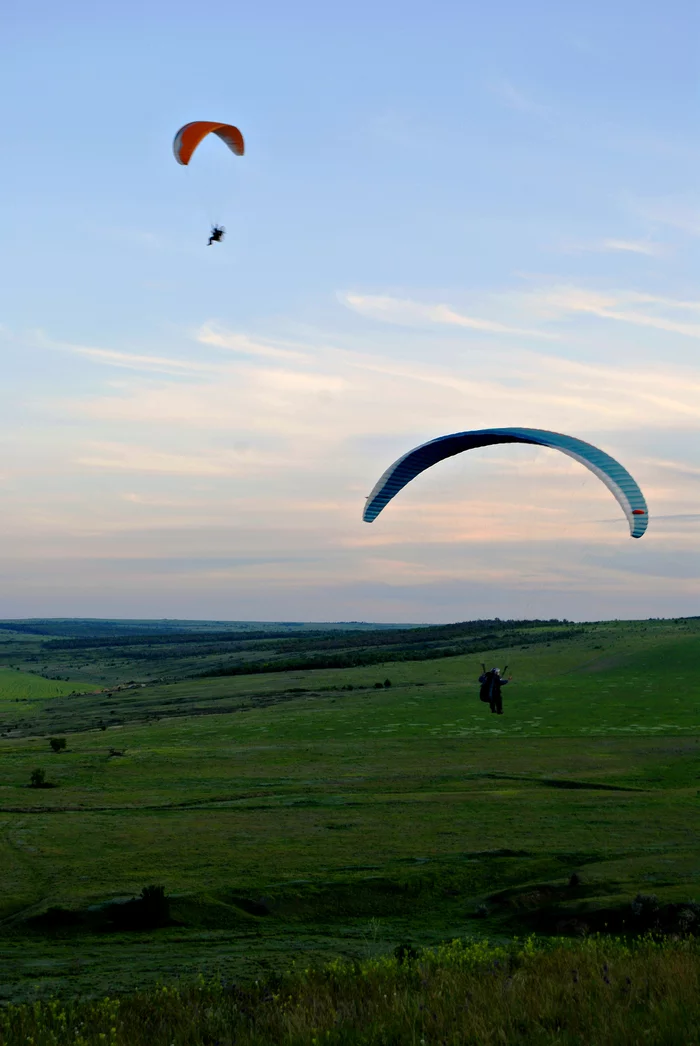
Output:
[[[699,614],[698,40],[690,0],[6,0],[0,617]],[[194,119],[245,157],[177,164]],[[532,447],[362,522],[500,426],[616,457],[645,538]]]

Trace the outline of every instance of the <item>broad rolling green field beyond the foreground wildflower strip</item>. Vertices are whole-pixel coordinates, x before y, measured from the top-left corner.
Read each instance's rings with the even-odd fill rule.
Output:
[[[700,899],[700,620],[560,631],[110,696],[3,669],[0,997],[580,933],[638,892]],[[482,659],[511,664],[503,717],[478,701]],[[17,704],[29,679],[62,692]],[[36,768],[58,787],[27,788]],[[174,925],[90,915],[151,883]]]

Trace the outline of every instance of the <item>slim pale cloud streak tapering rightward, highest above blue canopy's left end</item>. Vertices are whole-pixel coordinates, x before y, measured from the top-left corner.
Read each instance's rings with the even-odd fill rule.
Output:
[[[402,326],[425,326],[426,324],[444,324],[478,331],[481,334],[501,334],[529,338],[555,339],[557,335],[534,331],[527,327],[511,326],[498,320],[483,319],[477,316],[467,316],[452,306],[438,302],[430,304],[413,301],[410,298],[394,298],[388,295],[356,294],[351,291],[341,292],[338,298],[348,309],[370,319],[382,320],[385,323],[398,323]]]

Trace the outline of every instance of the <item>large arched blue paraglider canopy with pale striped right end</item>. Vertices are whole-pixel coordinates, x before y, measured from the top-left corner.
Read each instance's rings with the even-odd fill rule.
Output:
[[[476,429],[439,436],[415,447],[389,465],[379,479],[367,498],[362,519],[365,523],[376,520],[399,491],[431,465],[462,451],[491,447],[494,444],[532,444],[568,454],[590,469],[614,495],[627,516],[632,538],[641,538],[645,533],[649,522],[647,502],[636,482],[619,461],[583,439],[560,432],[548,432],[546,429]]]

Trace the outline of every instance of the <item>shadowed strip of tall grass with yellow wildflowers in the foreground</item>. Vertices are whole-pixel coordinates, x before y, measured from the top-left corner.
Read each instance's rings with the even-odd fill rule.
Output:
[[[236,986],[190,985],[0,1010],[2,1046],[700,1043],[700,945],[592,937],[453,941]]]

